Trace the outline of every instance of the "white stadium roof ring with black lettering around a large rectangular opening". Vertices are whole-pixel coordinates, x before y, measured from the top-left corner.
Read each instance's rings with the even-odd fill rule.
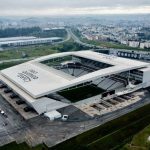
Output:
[[[52,69],[41,61],[68,55],[79,56],[113,65],[81,77],[70,78],[59,70]],[[57,53],[23,63],[1,71],[1,75],[25,91],[33,98],[39,98],[52,92],[74,86],[99,77],[148,66],[148,63],[105,55],[93,51]]]

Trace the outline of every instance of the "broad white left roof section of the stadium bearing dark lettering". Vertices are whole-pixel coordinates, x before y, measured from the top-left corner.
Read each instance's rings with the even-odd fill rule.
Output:
[[[17,65],[5,69],[1,73],[34,98],[69,82],[67,79],[31,63]]]

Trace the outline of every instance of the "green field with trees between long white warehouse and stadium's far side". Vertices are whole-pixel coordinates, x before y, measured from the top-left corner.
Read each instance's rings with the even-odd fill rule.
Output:
[[[83,49],[88,48],[81,46],[77,43],[74,43],[72,40],[55,46],[33,45],[33,46],[16,47],[11,49],[5,49],[5,51],[0,51],[0,60],[20,59],[22,58],[23,53],[26,54],[26,57],[38,57],[57,52],[77,51]]]

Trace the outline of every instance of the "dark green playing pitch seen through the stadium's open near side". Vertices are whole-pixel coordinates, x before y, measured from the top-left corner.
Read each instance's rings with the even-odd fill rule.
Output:
[[[63,97],[67,98],[71,102],[77,102],[95,95],[98,95],[100,93],[104,92],[103,89],[92,86],[92,85],[86,85],[82,87],[74,87],[69,90],[58,92]]]

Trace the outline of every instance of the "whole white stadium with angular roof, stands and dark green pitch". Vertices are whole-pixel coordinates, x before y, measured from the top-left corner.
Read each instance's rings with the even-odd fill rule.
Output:
[[[0,88],[38,115],[69,105],[82,110],[88,104],[95,111],[104,108],[101,102],[117,103],[110,100],[116,95],[149,87],[149,74],[149,63],[94,51],[64,52],[2,70]]]

